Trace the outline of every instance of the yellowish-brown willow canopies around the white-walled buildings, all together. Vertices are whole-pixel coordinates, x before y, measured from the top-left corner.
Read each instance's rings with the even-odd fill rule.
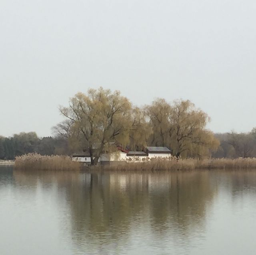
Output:
[[[170,104],[157,99],[140,108],[120,91],[100,87],[77,93],[68,107],[60,107],[60,113],[66,120],[55,131],[76,144],[74,148],[88,150],[92,164],[101,153],[114,150],[112,144],[132,150],[166,146],[177,157],[209,156],[219,145],[206,129],[208,115],[188,100]]]

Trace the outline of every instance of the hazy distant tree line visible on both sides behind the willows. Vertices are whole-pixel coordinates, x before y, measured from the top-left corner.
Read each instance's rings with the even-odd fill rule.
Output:
[[[233,131],[216,133],[214,136],[219,141],[219,146],[208,156],[213,158],[256,157],[256,128],[251,132],[236,133]],[[154,134],[151,134],[149,146],[158,146],[158,142],[154,139]],[[12,137],[0,136],[0,159],[12,160],[15,156],[30,152],[37,152],[41,155],[70,155],[76,152],[78,147],[74,145],[74,140],[64,136],[38,138],[36,132],[21,132]],[[80,149],[83,150],[82,147]]]

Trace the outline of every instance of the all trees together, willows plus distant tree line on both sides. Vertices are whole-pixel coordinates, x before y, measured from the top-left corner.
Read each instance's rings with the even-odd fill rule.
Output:
[[[206,128],[210,117],[189,100],[168,103],[159,98],[138,107],[120,91],[100,87],[77,93],[59,111],[64,119],[52,128],[53,136],[39,138],[36,132],[0,136],[0,159],[86,151],[94,166],[102,153],[114,152],[116,146],[135,152],[147,146],[166,147],[176,162],[256,157],[255,128],[248,133],[214,134]]]

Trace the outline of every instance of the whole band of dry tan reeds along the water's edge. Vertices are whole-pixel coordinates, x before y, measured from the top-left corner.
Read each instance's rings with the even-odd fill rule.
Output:
[[[21,170],[80,170],[82,164],[74,162],[68,156],[42,156],[30,153],[15,158],[15,168]],[[91,166],[91,170],[116,171],[177,171],[193,169],[256,169],[256,158],[220,158],[197,160],[193,158],[177,159],[148,158],[138,162],[136,158],[129,162],[116,162],[114,165]]]

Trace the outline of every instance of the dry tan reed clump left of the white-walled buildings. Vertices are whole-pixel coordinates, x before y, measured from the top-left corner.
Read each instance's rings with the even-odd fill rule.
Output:
[[[82,165],[74,162],[69,156],[42,156],[28,153],[15,158],[15,169],[18,170],[80,170]]]

